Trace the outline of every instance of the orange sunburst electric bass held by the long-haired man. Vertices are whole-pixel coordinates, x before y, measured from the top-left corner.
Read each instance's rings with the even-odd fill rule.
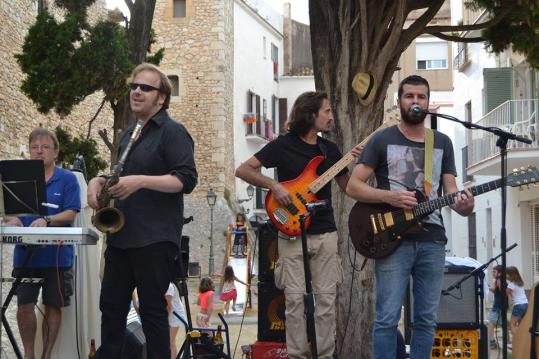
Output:
[[[381,129],[396,125],[399,122],[398,109],[393,108],[387,111],[385,120],[373,133],[365,138],[360,144],[365,144],[371,136]],[[266,212],[269,219],[277,229],[291,237],[301,235],[299,217],[307,213],[306,204],[317,202],[316,193],[330,182],[343,168],[348,166],[355,159],[352,152],[348,152],[335,163],[331,168],[324,172],[320,177],[316,174],[316,169],[324,160],[324,156],[316,156],[305,167],[301,175],[293,180],[281,182],[292,197],[292,202],[288,206],[279,203],[273,196],[272,191],[266,194]],[[305,221],[305,229],[309,228],[311,218]]]

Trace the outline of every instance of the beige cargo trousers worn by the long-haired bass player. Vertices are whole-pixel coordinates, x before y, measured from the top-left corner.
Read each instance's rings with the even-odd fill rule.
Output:
[[[286,346],[290,359],[309,358],[303,294],[305,273],[301,238],[289,240],[279,235],[279,260],[275,285],[286,298]],[[337,232],[308,235],[312,285],[315,294],[315,323],[318,357],[329,359],[335,350],[335,297],[342,282],[341,260],[337,254]]]

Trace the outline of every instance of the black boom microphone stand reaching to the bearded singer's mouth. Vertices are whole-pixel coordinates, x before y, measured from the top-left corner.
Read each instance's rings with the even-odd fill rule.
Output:
[[[532,141],[528,138],[517,136],[511,132],[507,132],[502,130],[499,127],[485,127],[482,125],[478,125],[476,123],[472,122],[466,122],[461,121],[456,117],[440,114],[436,112],[430,112],[425,109],[422,109],[420,107],[415,107],[412,109],[412,115],[417,113],[425,113],[428,115],[433,115],[441,118],[445,118],[447,120],[458,122],[464,127],[468,129],[479,129],[486,132],[493,133],[494,135],[498,136],[498,140],[496,141],[496,146],[500,148],[500,159],[501,159],[501,194],[502,194],[502,226],[500,230],[500,238],[501,238],[501,257],[502,257],[502,274],[501,274],[501,290],[502,295],[504,296],[504,300],[502,300],[502,342],[503,342],[503,359],[507,359],[507,316],[505,313],[507,312],[507,301],[505,296],[506,294],[506,288],[507,288],[507,281],[505,278],[505,268],[506,268],[506,253],[508,251],[507,249],[507,233],[506,233],[506,214],[507,214],[507,142],[509,140],[519,141],[527,144],[531,144]]]

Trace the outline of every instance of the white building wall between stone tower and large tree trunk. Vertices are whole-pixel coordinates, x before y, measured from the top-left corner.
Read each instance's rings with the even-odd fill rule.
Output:
[[[235,167],[260,150],[267,141],[247,140],[243,114],[247,113],[247,92],[260,96],[261,113],[263,100],[267,103],[267,116],[271,118],[272,96],[279,97],[279,82],[273,79],[271,44],[278,48],[279,75],[283,67],[283,35],[281,28],[276,29],[265,19],[274,19],[276,12],[262,7],[258,1],[259,12],[253,10],[242,0],[234,1],[234,161]],[[263,12],[264,11],[264,12]],[[268,15],[266,15],[266,13]],[[278,15],[278,14],[277,14]],[[278,26],[279,22],[273,21]],[[246,30],[248,29],[248,31]],[[266,39],[264,41],[264,38]],[[265,44],[265,49],[264,49]],[[278,121],[277,121],[278,122]],[[278,133],[278,123],[276,133]],[[263,173],[273,177],[273,170],[263,169]],[[237,199],[247,198],[247,183],[236,178]],[[233,198],[234,199],[234,198]],[[254,199],[245,202],[245,208],[253,208]]]

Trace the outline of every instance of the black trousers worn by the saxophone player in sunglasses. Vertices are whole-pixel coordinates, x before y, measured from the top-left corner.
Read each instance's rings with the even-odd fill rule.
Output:
[[[159,242],[142,248],[107,247],[101,284],[101,348],[99,358],[121,357],[126,319],[137,288],[148,359],[170,358],[165,292],[174,279],[178,247]]]

